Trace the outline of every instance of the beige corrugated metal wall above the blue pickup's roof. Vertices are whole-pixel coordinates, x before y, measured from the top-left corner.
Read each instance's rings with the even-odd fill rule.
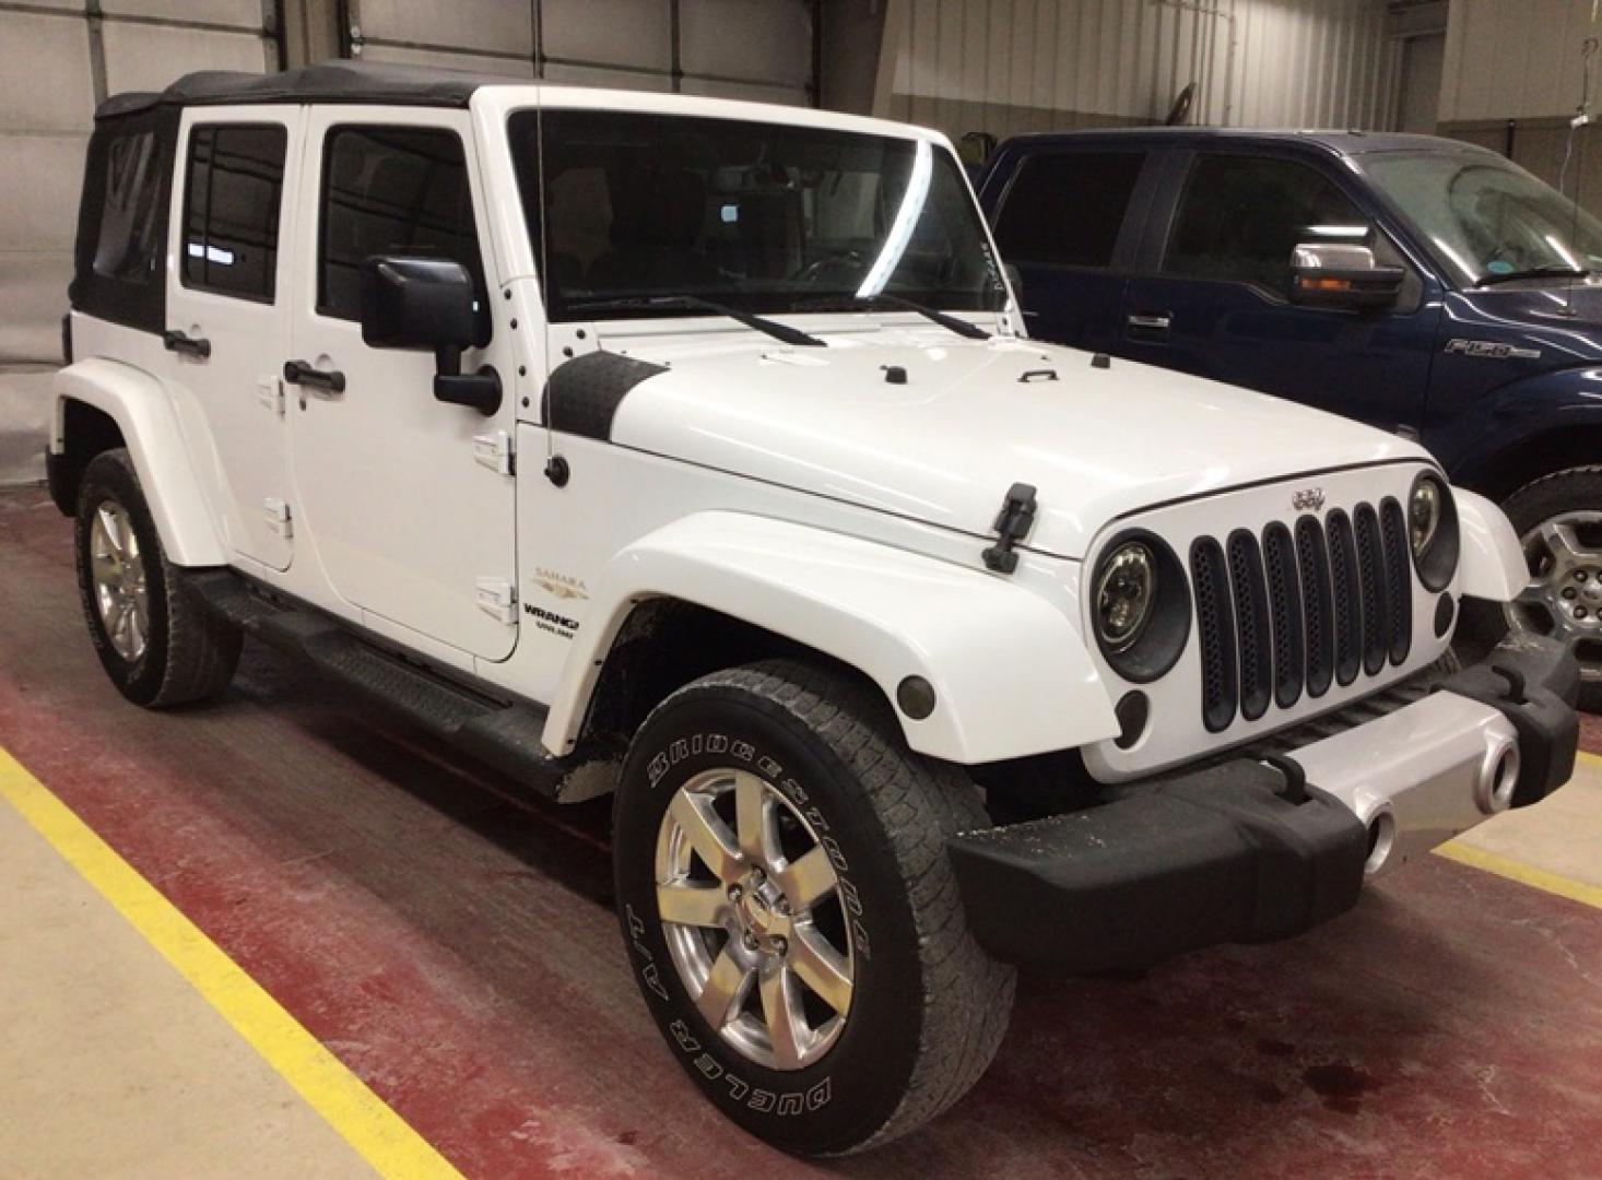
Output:
[[[1011,134],[1150,123],[1389,128],[1386,0],[889,0],[879,114]]]

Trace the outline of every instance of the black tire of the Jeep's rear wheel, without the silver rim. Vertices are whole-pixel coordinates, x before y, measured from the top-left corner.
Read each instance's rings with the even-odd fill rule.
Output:
[[[149,637],[138,660],[127,660],[111,642],[95,599],[90,533],[106,501],[127,512],[144,564]],[[184,572],[167,560],[151,509],[139,490],[133,460],[122,447],[90,461],[78,487],[75,517],[78,597],[90,639],[117,692],[135,704],[159,709],[221,693],[239,664],[244,636],[184,592]]]

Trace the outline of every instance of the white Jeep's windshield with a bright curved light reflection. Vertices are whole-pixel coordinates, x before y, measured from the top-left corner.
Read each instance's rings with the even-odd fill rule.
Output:
[[[968,184],[926,141],[615,110],[525,110],[509,130],[553,320],[706,314],[658,296],[1001,307]]]

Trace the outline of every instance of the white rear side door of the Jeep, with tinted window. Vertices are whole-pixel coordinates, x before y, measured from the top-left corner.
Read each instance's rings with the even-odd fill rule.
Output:
[[[303,107],[189,107],[173,178],[167,371],[197,461],[221,488],[229,548],[247,568],[293,556],[288,431],[279,367],[290,338],[288,251]],[[258,570],[260,572],[260,570]]]

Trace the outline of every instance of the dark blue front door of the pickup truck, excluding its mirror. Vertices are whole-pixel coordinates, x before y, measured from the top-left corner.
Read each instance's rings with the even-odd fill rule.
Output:
[[[1118,354],[1384,429],[1419,427],[1439,291],[1355,179],[1326,160],[1219,149],[1176,152],[1163,187],[1125,290]],[[1368,245],[1407,269],[1400,299],[1378,311],[1293,304],[1301,242]]]

